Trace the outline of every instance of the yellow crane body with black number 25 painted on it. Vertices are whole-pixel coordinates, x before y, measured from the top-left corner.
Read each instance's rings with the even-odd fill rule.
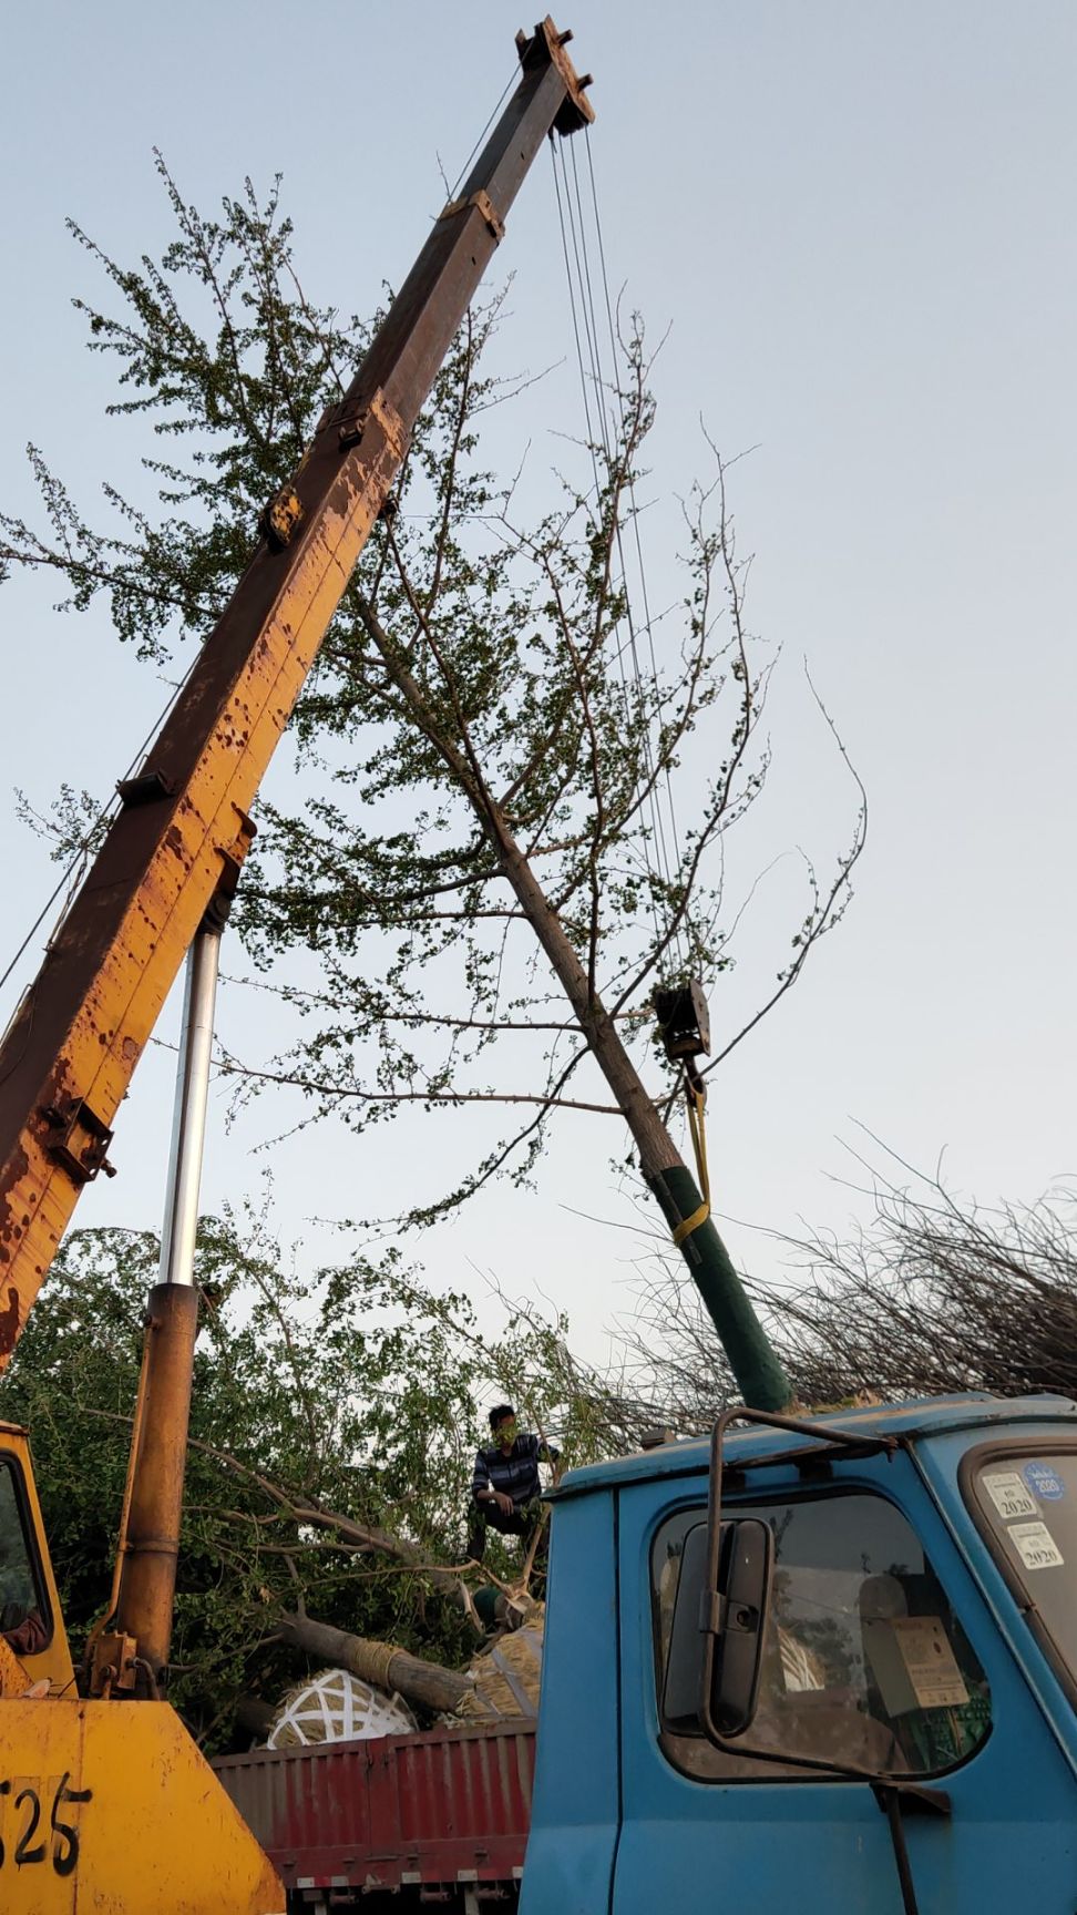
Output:
[[[4,1915],[284,1915],[174,1708],[79,1697],[27,1432],[0,1423],[0,1597],[13,1588],[44,1641],[15,1651],[0,1633]]]

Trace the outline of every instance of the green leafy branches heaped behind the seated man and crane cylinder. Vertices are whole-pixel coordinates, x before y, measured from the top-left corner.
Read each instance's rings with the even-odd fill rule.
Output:
[[[0,1385],[0,1415],[33,1432],[63,1614],[79,1655],[102,1614],[157,1243],[77,1231],[61,1249]],[[301,1279],[245,1218],[203,1222],[171,1695],[209,1745],[245,1689],[274,1699],[299,1664],[272,1645],[282,1611],[456,1662],[471,1637],[422,1565],[462,1561],[485,1406],[506,1390],[569,1457],[594,1459],[563,1325],[516,1319],[483,1340],[466,1298],[437,1295],[395,1252]],[[594,1392],[592,1392],[594,1394]],[[337,1519],[343,1519],[337,1522]],[[385,1532],[420,1568],[360,1549]],[[516,1557],[491,1547],[510,1572]]]

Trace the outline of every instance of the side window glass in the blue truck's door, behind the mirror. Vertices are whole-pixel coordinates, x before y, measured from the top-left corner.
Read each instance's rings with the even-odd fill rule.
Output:
[[[937,1775],[987,1737],[987,1678],[906,1519],[880,1496],[828,1494],[736,1507],[774,1532],[774,1595],[759,1712],[738,1754],[661,1720],[676,1768],[715,1781],[814,1777],[795,1756]],[[703,1509],[661,1524],[652,1547],[659,1718],[684,1538]],[[751,1758],[782,1750],[790,1762]]]

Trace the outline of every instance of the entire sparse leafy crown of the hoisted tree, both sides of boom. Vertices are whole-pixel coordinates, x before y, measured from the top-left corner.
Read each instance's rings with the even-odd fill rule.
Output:
[[[79,306],[90,349],[119,373],[109,410],[153,446],[140,498],[105,486],[100,530],[31,448],[42,517],[0,519],[8,565],[57,573],[77,611],[102,594],[121,640],[157,661],[222,611],[261,507],[370,337],[307,299],[276,188],[263,203],[247,182],[213,220],[159,170],[176,226],[159,262],[125,268],[73,228],[117,295],[107,310]],[[297,1013],[293,1042],[226,1061],[245,1092],[289,1084],[307,1116],[356,1130],[404,1107],[491,1113],[452,1189],[416,1191],[418,1220],[491,1176],[527,1178],[560,1107],[619,1116],[630,1097],[669,1097],[652,994],[671,977],[715,982],[732,963],[744,898],[724,890],[726,839],[770,751],[772,655],[745,622],[726,467],[715,456],[686,488],[680,603],[653,622],[632,613],[627,553],[653,419],[642,333],[629,329],[592,394],[594,444],[560,440],[565,473],[540,479],[535,509],[523,448],[508,481],[479,456],[485,416],[525,383],[491,370],[502,297],[468,316],[437,377],[299,705],[299,795],[259,806],[240,896],[263,971],[295,950],[318,961],[312,988],[295,971],[264,982]],[[675,829],[680,777],[692,802]],[[803,917],[747,1028],[837,923],[862,827],[860,808],[826,879],[805,866]],[[71,793],[57,833],[59,850],[84,833]],[[579,973],[571,1007],[542,946],[550,925]],[[600,1057],[611,1082],[613,1030],[630,1063],[629,1090],[609,1097],[581,1067]]]

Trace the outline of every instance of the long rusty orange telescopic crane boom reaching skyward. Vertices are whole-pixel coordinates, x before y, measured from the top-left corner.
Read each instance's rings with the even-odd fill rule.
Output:
[[[119,1103],[199,921],[232,889],[249,810],[385,504],[418,412],[542,140],[592,119],[544,19],[521,77],[349,391],[291,484],[56,933],[0,1048],[0,1369],[82,1183],[109,1172]]]

